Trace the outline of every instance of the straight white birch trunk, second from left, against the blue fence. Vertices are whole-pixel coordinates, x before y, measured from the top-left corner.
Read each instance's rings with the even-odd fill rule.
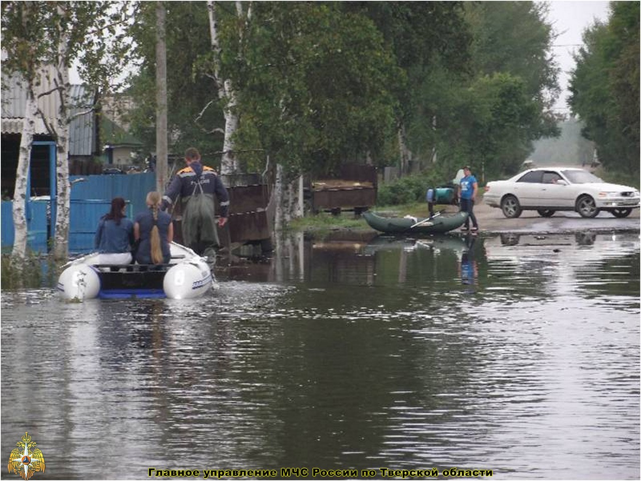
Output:
[[[58,4],[59,15],[64,15],[63,7]],[[58,58],[56,59],[57,95],[60,96],[60,108],[55,120],[56,132],[56,227],[54,230],[54,259],[69,258],[69,32],[58,26]]]

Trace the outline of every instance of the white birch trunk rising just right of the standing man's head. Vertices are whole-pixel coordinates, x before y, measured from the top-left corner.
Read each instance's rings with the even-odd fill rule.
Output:
[[[242,18],[242,6],[240,2],[236,3],[238,18]],[[251,8],[251,7],[250,7]],[[207,2],[207,12],[209,15],[209,28],[211,36],[211,45],[213,51],[213,81],[218,90],[218,98],[223,100],[223,114],[225,117],[225,138],[222,144],[221,173],[229,175],[237,173],[239,170],[238,160],[235,155],[235,143],[233,140],[234,133],[238,128],[237,97],[231,83],[231,79],[221,78],[221,43],[218,36],[218,20],[216,17],[216,3],[213,0]],[[249,18],[249,13],[247,14]],[[242,27],[240,27],[242,29]],[[242,30],[241,30],[242,33]],[[242,37],[241,37],[242,38]]]

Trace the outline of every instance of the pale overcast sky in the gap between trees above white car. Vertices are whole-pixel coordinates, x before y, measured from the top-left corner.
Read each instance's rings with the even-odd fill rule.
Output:
[[[594,24],[595,19],[605,22],[608,19],[608,4],[604,1],[551,1],[548,20],[553,24],[554,31],[559,34],[553,49],[556,61],[561,67],[559,84],[561,95],[556,101],[556,108],[562,113],[569,113],[565,103],[567,100],[567,84],[569,72],[574,68],[572,53],[578,51],[583,44],[583,31]]]

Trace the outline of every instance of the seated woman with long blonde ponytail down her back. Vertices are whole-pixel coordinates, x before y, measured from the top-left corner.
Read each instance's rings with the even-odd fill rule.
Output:
[[[136,252],[138,264],[169,264],[169,244],[174,240],[171,216],[160,210],[162,198],[156,191],[147,194],[147,210],[134,219],[133,237],[140,241]]]

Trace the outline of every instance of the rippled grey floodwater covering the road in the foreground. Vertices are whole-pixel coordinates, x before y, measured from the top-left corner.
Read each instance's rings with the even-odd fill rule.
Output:
[[[297,235],[271,260],[221,262],[203,299],[3,292],[1,453],[29,432],[35,481],[288,467],[637,480],[639,262],[638,233]]]

